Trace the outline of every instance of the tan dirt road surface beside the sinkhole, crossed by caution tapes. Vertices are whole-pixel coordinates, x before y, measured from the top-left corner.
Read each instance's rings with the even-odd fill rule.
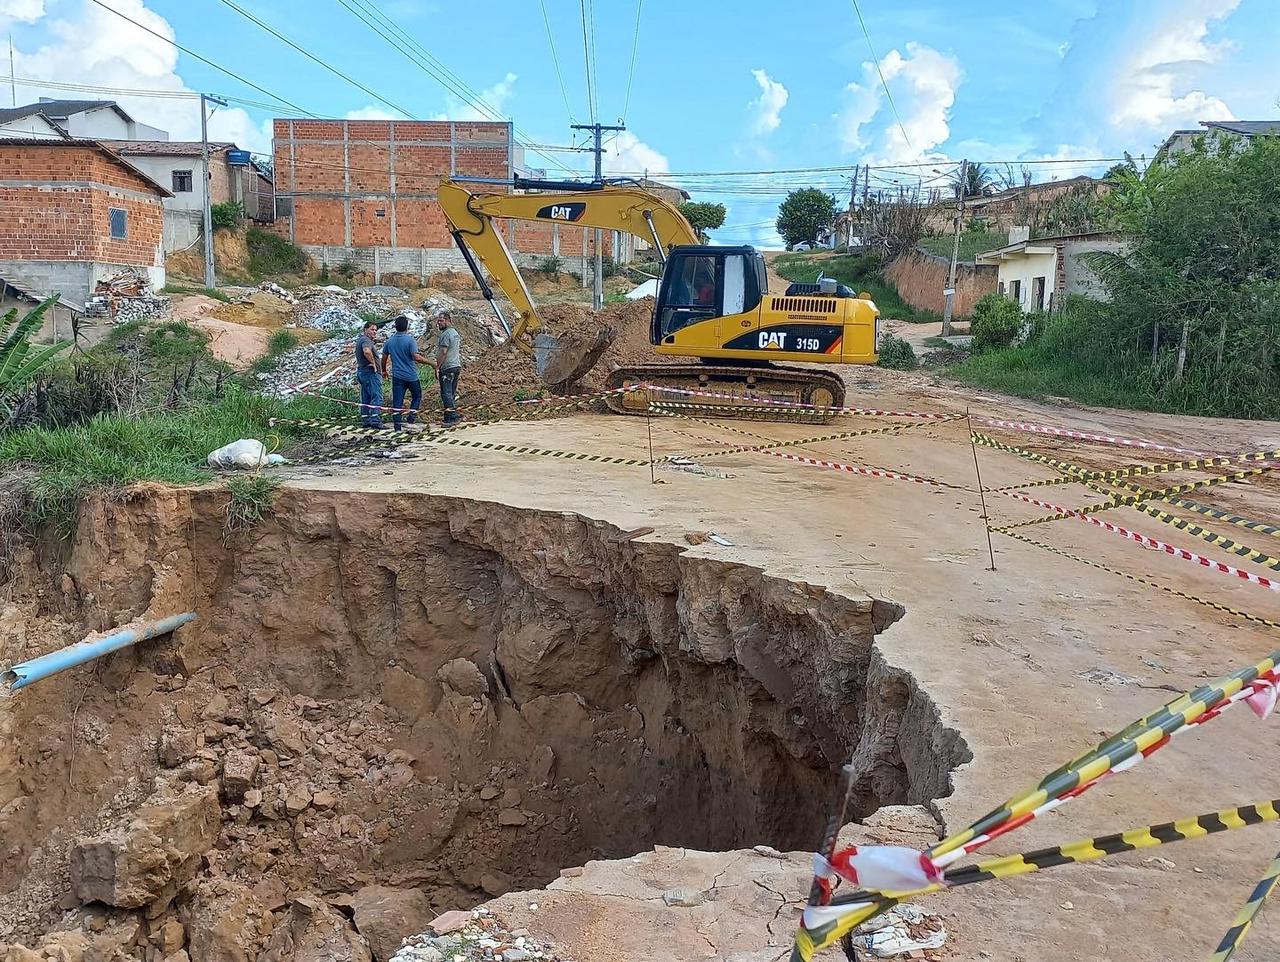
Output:
[[[966,394],[925,375],[881,370],[854,374],[849,386],[851,406],[954,416],[972,408],[975,418],[1052,423],[1197,450],[1280,446],[1280,425],[1270,422],[1043,406]],[[436,445],[422,445],[410,462],[294,468],[285,476],[289,484],[308,489],[458,495],[572,512],[622,530],[652,527],[644,540],[685,544],[690,532],[716,532],[731,544],[708,541],[687,551],[758,565],[850,597],[902,605],[901,620],[878,637],[879,655],[915,679],[928,696],[919,710],[936,711],[973,755],[952,773],[954,792],[934,801],[948,829],[1153,710],[1172,692],[1277,647],[1274,628],[998,533],[992,536],[996,569],[991,571],[964,420],[904,421],[909,429],[897,435],[800,444],[777,453],[888,468],[942,485],[852,475],[777,454],[712,454],[724,445],[759,443],[741,431],[795,440],[883,423],[842,417],[815,429],[655,420],[654,453],[696,455],[699,466],[699,473],[659,467],[658,484],[650,482],[649,468],[641,466]],[[984,430],[1088,466],[1180,457]],[[508,422],[458,438],[649,457],[643,418]],[[987,489],[1055,476],[1002,452],[979,449],[978,458]],[[1169,484],[1183,480],[1176,475]],[[1261,519],[1280,518],[1280,495],[1271,482],[1253,480],[1212,491],[1213,504]],[[1028,494],[1069,505],[1097,499],[1079,485]],[[987,499],[995,523],[1044,514],[1009,496],[992,493]],[[1267,572],[1134,509],[1115,509],[1105,517],[1211,559]],[[1280,620],[1276,592],[1143,549],[1092,524],[1065,519],[1025,531],[1044,545],[1172,591]],[[1251,544],[1270,540],[1238,528],[1224,532],[1248,535]],[[1139,770],[1000,839],[991,851],[1055,844],[1280,794],[1267,764],[1275,759],[1275,725],[1276,720],[1260,722],[1243,709],[1228,713]],[[931,748],[909,745],[904,751],[927,756]],[[1155,853],[1158,857],[1138,852],[1091,867],[1055,870],[1044,878],[972,887],[934,898],[928,907],[943,912],[952,930],[948,959],[1201,958],[1216,945],[1262,872],[1274,839],[1274,830],[1245,829],[1170,846]],[[1263,915],[1238,958],[1268,958],[1277,935],[1280,912]]]

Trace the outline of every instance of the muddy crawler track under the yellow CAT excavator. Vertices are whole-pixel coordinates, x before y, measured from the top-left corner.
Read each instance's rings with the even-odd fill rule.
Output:
[[[637,390],[605,398],[609,411],[645,414],[653,412],[653,406],[666,403],[673,411],[703,417],[826,423],[845,404],[840,375],[777,365],[632,365],[620,367],[605,380],[609,389],[628,385],[636,385]]]

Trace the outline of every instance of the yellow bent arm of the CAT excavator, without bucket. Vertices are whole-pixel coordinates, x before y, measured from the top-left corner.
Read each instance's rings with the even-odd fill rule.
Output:
[[[530,349],[530,338],[541,326],[541,319],[495,217],[622,230],[654,244],[663,260],[673,246],[699,243],[698,232],[685,215],[637,187],[604,185],[563,193],[472,193],[453,180],[442,180],[436,198],[481,293],[502,326],[525,351]],[[515,325],[507,324],[494,303],[481,266],[515,307]]]

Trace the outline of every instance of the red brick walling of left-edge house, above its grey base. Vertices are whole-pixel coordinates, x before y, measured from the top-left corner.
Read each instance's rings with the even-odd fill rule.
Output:
[[[124,239],[111,238],[111,209],[127,212]],[[163,230],[155,188],[99,151],[0,142],[0,258],[154,267]]]

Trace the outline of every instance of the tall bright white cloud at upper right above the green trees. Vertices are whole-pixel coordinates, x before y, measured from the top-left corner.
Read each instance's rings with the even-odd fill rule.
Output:
[[[1208,42],[1210,24],[1230,17],[1239,5],[1240,0],[1162,3],[1146,20],[1146,31],[1130,35],[1132,46],[1107,84],[1111,125],[1165,130],[1231,119],[1221,99],[1188,87],[1197,67],[1219,61],[1228,50],[1226,43]]]

